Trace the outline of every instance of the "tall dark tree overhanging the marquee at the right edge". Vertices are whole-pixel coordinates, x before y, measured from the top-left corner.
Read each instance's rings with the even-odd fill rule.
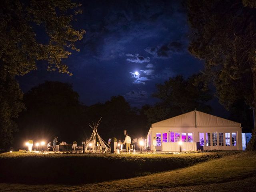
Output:
[[[219,102],[256,109],[256,6],[253,0],[188,0],[188,50],[205,61],[204,78]],[[247,150],[256,150],[256,130]]]

